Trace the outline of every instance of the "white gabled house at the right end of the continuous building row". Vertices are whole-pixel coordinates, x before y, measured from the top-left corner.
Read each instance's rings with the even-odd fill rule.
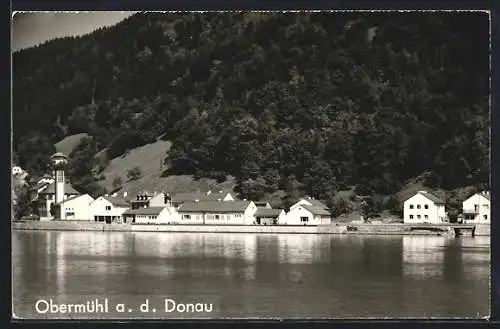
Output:
[[[292,205],[285,218],[287,225],[321,225],[332,221],[328,207],[312,198],[301,199]]]

